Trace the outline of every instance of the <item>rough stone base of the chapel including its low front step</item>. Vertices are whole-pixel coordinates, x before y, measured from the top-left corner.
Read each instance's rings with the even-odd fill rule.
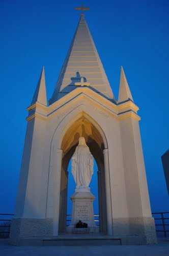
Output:
[[[129,224],[129,225],[127,225]],[[126,226],[128,227],[128,232]],[[70,233],[59,236],[53,236],[53,220],[47,219],[24,219],[14,218],[11,222],[10,239],[11,245],[104,245],[104,244],[122,244],[122,245],[146,245],[156,244],[156,233],[154,219],[150,217],[114,219],[114,236],[97,233],[99,226],[88,225],[88,233],[78,233],[74,225]],[[78,229],[78,228],[76,228]],[[97,230],[96,230],[97,229]],[[91,242],[92,241],[92,242]]]

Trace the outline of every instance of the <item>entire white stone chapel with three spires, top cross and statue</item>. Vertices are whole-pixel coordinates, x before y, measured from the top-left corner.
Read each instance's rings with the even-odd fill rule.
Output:
[[[79,220],[88,224],[86,239],[97,233],[96,239],[100,234],[112,242],[118,238],[120,244],[156,243],[138,107],[123,68],[115,99],[83,14],[89,8],[76,9],[81,10],[80,19],[49,103],[43,68],[27,108],[10,243],[43,244],[64,236],[78,240]],[[76,187],[67,227],[70,159],[69,176]],[[94,223],[96,195],[90,187],[93,159],[98,167],[99,227]]]

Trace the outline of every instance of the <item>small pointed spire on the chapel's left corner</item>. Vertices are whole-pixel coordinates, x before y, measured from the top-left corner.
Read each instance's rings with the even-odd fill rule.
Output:
[[[42,69],[31,104],[34,104],[37,101],[43,105],[47,105],[44,67]]]

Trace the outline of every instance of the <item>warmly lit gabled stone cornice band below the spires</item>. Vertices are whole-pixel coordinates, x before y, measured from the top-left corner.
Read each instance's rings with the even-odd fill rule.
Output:
[[[140,120],[137,115],[138,107],[131,100],[116,104],[87,87],[77,88],[49,106],[36,102],[27,108],[29,116],[26,120],[29,121],[35,117],[43,120],[51,119],[54,116],[61,118],[84,103],[89,104],[91,109],[97,109],[105,117],[110,115],[121,120],[131,116]]]

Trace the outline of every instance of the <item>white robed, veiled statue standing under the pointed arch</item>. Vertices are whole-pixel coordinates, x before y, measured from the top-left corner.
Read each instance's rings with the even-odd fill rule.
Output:
[[[72,174],[76,182],[76,190],[90,190],[89,184],[93,175],[93,156],[86,144],[84,137],[79,137],[72,156]]]

